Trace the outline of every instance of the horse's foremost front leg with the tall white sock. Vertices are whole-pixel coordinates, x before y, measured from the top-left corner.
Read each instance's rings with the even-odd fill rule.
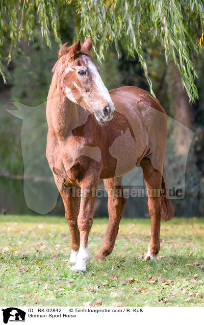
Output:
[[[98,186],[99,175],[85,177],[80,182],[81,202],[78,215],[78,227],[80,230],[80,249],[77,255],[77,262],[72,266],[74,272],[86,272],[86,261],[89,257],[88,237],[93,223],[93,210]]]

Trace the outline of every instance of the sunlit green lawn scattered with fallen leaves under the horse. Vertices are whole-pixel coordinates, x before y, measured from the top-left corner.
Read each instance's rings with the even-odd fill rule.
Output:
[[[163,222],[156,262],[142,259],[149,219],[121,220],[113,253],[94,261],[106,227],[94,219],[87,273],[75,274],[65,218],[0,216],[0,306],[204,306],[204,219]]]

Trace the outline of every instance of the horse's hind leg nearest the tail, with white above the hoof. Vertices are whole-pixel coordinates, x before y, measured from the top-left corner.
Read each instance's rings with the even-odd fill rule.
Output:
[[[149,158],[143,158],[140,162],[143,169],[144,181],[148,194],[148,208],[151,218],[151,239],[145,260],[154,260],[160,251],[160,226],[161,226],[161,202],[160,190],[162,175],[156,170]]]

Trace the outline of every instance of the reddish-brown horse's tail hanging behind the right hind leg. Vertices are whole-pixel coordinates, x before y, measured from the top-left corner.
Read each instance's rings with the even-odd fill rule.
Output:
[[[163,170],[162,175],[162,195],[161,195],[161,203],[162,203],[162,220],[163,221],[169,221],[174,215],[174,206],[171,201],[171,198],[169,197],[169,190],[167,186],[167,180],[166,180],[166,173],[165,170]]]

